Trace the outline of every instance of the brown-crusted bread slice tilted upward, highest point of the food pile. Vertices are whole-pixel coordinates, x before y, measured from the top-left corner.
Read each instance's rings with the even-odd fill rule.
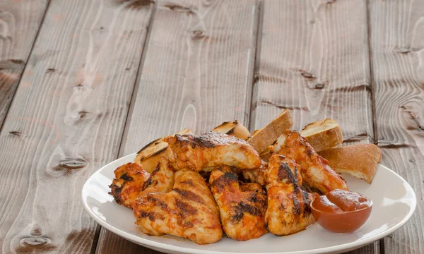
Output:
[[[293,126],[293,118],[290,115],[288,109],[284,109],[283,112],[276,118],[268,123],[267,126],[256,131],[252,138],[247,140],[247,143],[252,145],[255,150],[259,153],[264,152],[266,147],[271,145],[283,131],[288,130]]]

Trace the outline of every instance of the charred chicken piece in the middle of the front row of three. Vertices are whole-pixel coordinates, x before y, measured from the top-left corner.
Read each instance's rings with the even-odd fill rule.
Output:
[[[240,183],[230,167],[220,165],[209,178],[225,234],[238,241],[266,234],[266,193],[257,183]]]

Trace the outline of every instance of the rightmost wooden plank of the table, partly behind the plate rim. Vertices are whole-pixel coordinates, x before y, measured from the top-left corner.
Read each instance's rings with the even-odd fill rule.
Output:
[[[424,249],[424,3],[370,1],[372,68],[382,164],[416,192],[406,226],[384,238],[384,253]]]

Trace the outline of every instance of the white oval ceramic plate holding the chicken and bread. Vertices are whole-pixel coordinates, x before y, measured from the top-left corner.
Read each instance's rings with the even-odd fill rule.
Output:
[[[117,205],[108,187],[113,171],[136,154],[117,159],[96,171],[86,181],[82,191],[84,208],[96,222],[129,241],[164,253],[230,254],[230,253],[341,253],[377,241],[399,229],[416,209],[416,195],[398,174],[379,165],[372,184],[344,176],[351,191],[363,193],[374,202],[367,223],[352,234],[334,234],[317,223],[298,234],[273,236],[266,234],[249,241],[223,238],[204,246],[174,236],[147,236],[134,224],[132,210]]]

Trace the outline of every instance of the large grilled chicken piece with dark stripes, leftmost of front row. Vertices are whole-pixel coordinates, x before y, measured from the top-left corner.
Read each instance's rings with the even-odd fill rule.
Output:
[[[223,236],[206,182],[191,170],[174,171],[163,157],[133,205],[136,224],[151,236],[170,234],[207,244]]]

